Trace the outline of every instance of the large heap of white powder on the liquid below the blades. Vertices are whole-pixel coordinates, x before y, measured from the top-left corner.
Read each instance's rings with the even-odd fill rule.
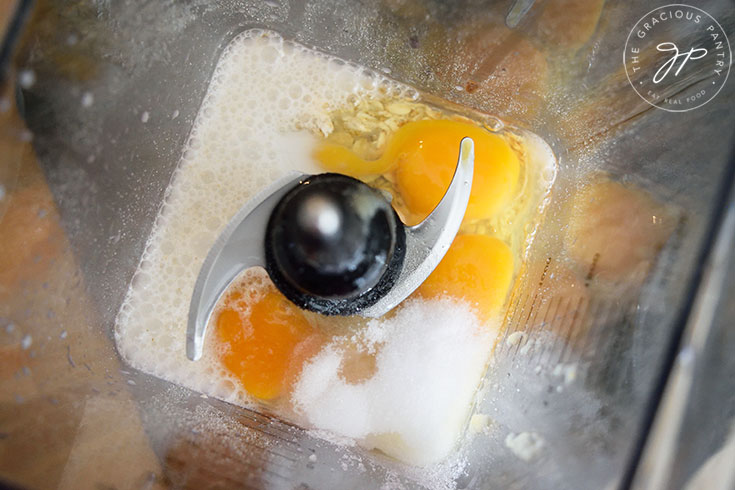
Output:
[[[297,411],[315,427],[402,461],[441,460],[459,439],[497,332],[449,301],[408,302],[367,331],[382,344],[375,374],[345,381],[345,352],[335,340],[302,371],[292,397]]]

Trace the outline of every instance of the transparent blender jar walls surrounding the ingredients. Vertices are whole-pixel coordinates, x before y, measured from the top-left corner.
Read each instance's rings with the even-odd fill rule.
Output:
[[[0,478],[8,485],[687,488],[732,454],[735,88],[725,82],[701,107],[671,112],[631,86],[626,41],[657,5],[7,5]],[[732,38],[729,2],[696,7]],[[444,468],[449,481],[441,468],[416,473],[266,411],[203,397],[127,366],[116,351],[115,317],[219,55],[253,28],[388,73],[423,100],[484,114],[489,126],[531,131],[555,154],[557,178],[528,252],[535,265],[507,302],[475,407],[492,425],[470,441],[461,471]],[[662,34],[671,35],[697,33]],[[697,72],[671,90],[696,94],[712,77]],[[673,225],[644,273],[602,287],[593,271],[562,294],[552,283],[564,274],[570,206],[601,173],[665,203]],[[539,341],[549,330],[562,335]],[[536,436],[545,450],[532,461],[508,448]],[[727,488],[732,469],[714,482]]]

